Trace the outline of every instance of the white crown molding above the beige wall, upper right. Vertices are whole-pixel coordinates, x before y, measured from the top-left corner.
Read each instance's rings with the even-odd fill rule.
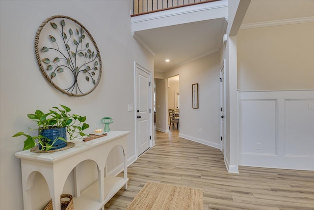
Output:
[[[292,18],[292,19],[284,19],[284,20],[242,24],[240,27],[240,30],[270,27],[270,26],[281,26],[281,25],[289,25],[289,24],[298,24],[298,23],[309,23],[309,22],[314,22],[314,16],[305,17],[305,18]]]

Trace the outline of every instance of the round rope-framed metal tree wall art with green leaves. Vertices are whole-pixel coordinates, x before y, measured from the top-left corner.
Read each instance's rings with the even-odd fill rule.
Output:
[[[89,31],[68,16],[52,16],[38,28],[35,55],[45,78],[57,90],[83,96],[95,90],[102,60]]]

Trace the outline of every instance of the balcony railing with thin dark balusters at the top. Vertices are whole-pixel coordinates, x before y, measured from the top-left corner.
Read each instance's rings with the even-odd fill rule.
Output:
[[[133,0],[133,16],[217,0]]]

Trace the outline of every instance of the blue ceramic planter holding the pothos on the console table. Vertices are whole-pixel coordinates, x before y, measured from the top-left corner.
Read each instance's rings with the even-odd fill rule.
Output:
[[[51,128],[51,129],[43,129],[40,132],[41,135],[45,136],[47,139],[52,140],[52,142],[57,139],[58,137],[62,137],[65,140],[67,139],[67,132],[65,127],[60,127],[60,128]],[[46,140],[42,140],[46,141]],[[50,144],[52,143],[50,142]],[[61,149],[67,146],[67,142],[62,141],[61,139],[58,139],[52,146],[52,149],[50,150],[57,150]],[[38,145],[39,150],[42,149],[42,146],[39,144]]]

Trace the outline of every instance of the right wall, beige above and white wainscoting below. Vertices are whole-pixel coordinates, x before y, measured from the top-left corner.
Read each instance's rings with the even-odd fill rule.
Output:
[[[240,165],[314,170],[313,35],[313,22],[239,30]]]

